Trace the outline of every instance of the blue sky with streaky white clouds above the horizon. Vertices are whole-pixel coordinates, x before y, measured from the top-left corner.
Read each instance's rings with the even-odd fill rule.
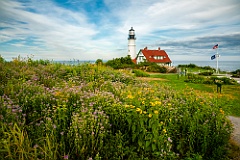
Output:
[[[0,0],[0,55],[47,60],[125,57],[165,50],[172,61],[240,62],[239,0]]]

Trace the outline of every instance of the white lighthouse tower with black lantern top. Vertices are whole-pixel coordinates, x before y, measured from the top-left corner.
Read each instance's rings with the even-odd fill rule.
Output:
[[[136,44],[135,44],[135,31],[133,27],[129,30],[129,35],[128,35],[128,55],[130,55],[131,59],[136,58]]]

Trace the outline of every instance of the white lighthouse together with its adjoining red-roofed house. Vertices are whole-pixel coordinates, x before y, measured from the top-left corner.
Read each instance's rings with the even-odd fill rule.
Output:
[[[152,62],[158,65],[171,66],[172,61],[168,57],[168,54],[161,50],[160,47],[156,50],[150,50],[147,47],[140,49],[136,55],[136,36],[133,27],[129,30],[128,35],[128,55],[130,55],[132,61],[136,64],[141,62]]]

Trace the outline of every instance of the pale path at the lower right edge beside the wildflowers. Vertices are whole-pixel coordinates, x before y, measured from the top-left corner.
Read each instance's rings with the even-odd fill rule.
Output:
[[[232,122],[234,128],[232,138],[240,146],[240,118],[233,116],[228,116],[228,118]]]

